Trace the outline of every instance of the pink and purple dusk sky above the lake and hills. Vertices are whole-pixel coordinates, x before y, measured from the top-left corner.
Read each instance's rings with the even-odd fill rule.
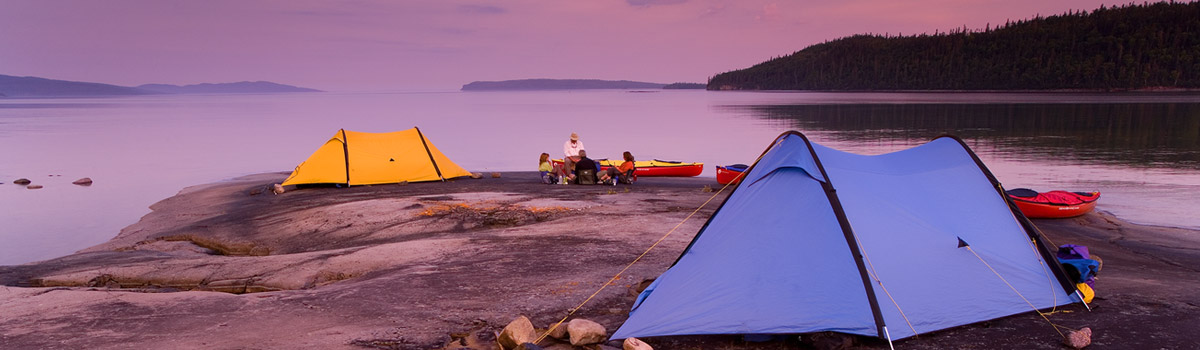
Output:
[[[1112,4],[1123,2],[10,0],[0,6],[0,74],[332,91],[524,78],[704,83],[854,34],[982,29]]]

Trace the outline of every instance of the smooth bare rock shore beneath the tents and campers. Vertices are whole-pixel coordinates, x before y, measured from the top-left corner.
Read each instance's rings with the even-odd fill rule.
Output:
[[[188,187],[106,243],[0,266],[0,349],[496,349],[506,324],[524,315],[545,330],[678,225],[575,314],[611,332],[632,290],[674,261],[725,197],[714,198],[712,179],[551,186],[535,173],[272,194],[286,176]],[[1092,310],[1061,307],[1050,321],[1093,330],[1088,349],[1200,348],[1200,233],[1103,212],[1034,223],[1055,243],[1088,246],[1104,261]],[[655,349],[887,348],[823,336],[642,340]],[[1063,348],[1037,314],[895,345]]]

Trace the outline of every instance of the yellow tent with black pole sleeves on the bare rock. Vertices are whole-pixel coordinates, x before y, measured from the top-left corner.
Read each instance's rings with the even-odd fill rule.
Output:
[[[442,155],[415,127],[390,133],[340,129],[307,161],[296,165],[283,186],[445,181],[469,175]]]

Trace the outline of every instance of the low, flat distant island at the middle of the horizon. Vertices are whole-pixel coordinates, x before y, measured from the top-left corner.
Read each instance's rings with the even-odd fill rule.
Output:
[[[659,84],[600,79],[520,79],[502,82],[472,82],[470,84],[462,85],[462,91],[704,89],[704,84],[694,83]]]

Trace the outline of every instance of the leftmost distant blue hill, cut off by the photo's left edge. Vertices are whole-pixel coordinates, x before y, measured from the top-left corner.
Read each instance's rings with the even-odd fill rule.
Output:
[[[0,96],[6,97],[128,96],[146,93],[155,92],[100,83],[0,76]]]

